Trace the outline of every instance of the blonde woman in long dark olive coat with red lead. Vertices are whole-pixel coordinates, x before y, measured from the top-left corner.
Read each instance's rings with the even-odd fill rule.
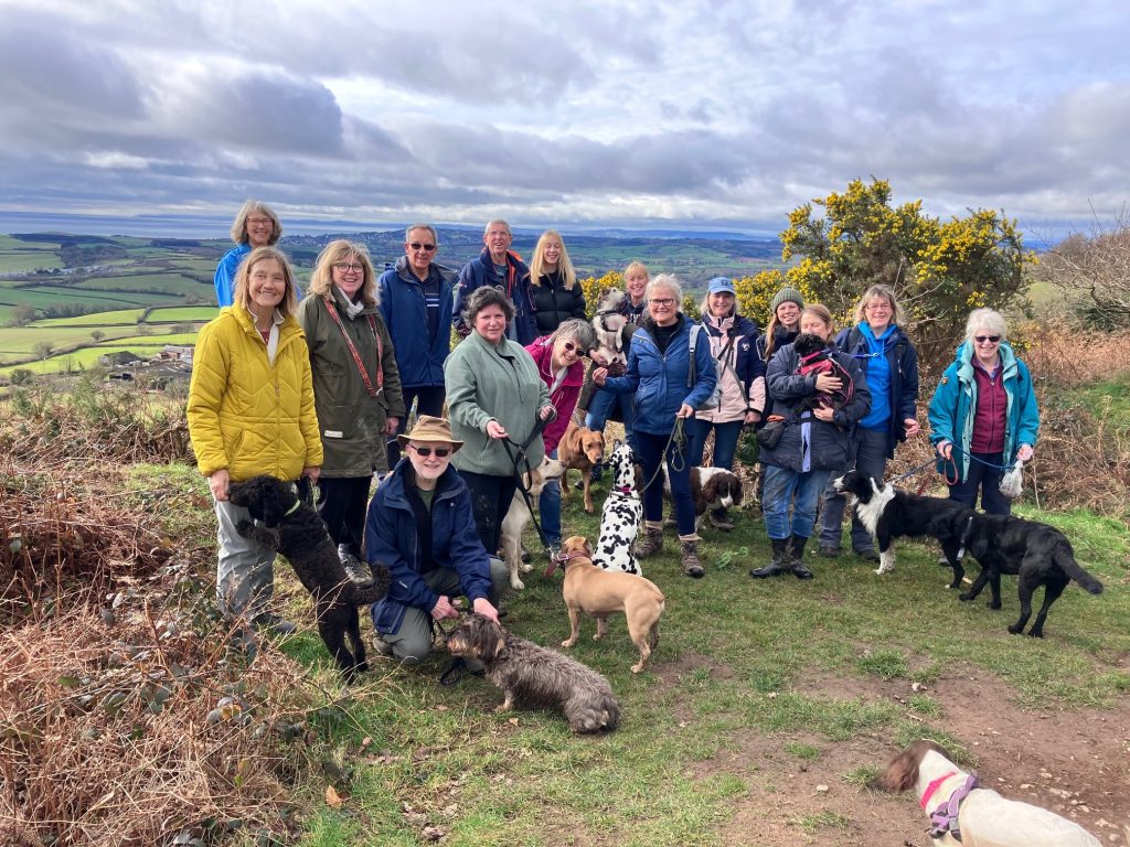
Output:
[[[400,372],[381,317],[376,274],[362,244],[325,245],[298,306],[325,448],[318,514],[349,578],[372,584],[362,538],[373,473],[389,470],[388,439],[405,414]]]

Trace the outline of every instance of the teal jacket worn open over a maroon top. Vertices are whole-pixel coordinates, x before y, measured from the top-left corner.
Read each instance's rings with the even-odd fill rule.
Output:
[[[1000,346],[1000,364],[1008,398],[1005,407],[1005,461],[1016,461],[1016,452],[1022,444],[1036,446],[1040,435],[1040,410],[1036,408],[1036,392],[1027,366],[1016,358],[1007,342]],[[941,382],[930,401],[930,442],[938,446],[950,442],[958,480],[970,472],[970,444],[973,442],[973,416],[977,408],[977,384],[973,378],[973,348],[963,342],[957,348],[957,357],[941,375]],[[950,466],[950,473],[953,466]],[[938,472],[947,471],[945,460],[938,460]]]

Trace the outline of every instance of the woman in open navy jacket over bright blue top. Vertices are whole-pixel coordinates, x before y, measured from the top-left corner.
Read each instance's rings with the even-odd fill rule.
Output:
[[[883,480],[895,446],[918,435],[918,350],[903,332],[905,318],[887,286],[871,286],[855,305],[855,325],[836,335],[836,347],[860,364],[871,392],[871,411],[852,431],[854,468]],[[840,555],[841,524],[847,498],[832,486],[820,510],[820,556]],[[871,533],[852,516],[851,549],[878,561]]]

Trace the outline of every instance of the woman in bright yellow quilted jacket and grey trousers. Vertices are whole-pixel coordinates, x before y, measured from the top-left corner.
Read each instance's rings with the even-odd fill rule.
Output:
[[[227,487],[260,474],[318,480],[322,443],[310,352],[294,317],[295,290],[281,251],[257,247],[247,254],[233,304],[200,331],[188,408],[197,465],[216,500],[220,611],[278,634],[294,625],[267,611],[275,552],[236,531],[251,516],[228,503]]]

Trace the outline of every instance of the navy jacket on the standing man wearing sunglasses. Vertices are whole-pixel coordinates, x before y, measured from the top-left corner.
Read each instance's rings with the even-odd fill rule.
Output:
[[[408,267],[408,256],[400,256],[395,268],[386,270],[377,280],[381,317],[392,338],[402,388],[443,385],[443,363],[451,350],[447,328],[451,325],[455,271],[433,262],[428,276],[429,281],[440,283],[440,320],[435,338],[428,338],[424,283]]]

